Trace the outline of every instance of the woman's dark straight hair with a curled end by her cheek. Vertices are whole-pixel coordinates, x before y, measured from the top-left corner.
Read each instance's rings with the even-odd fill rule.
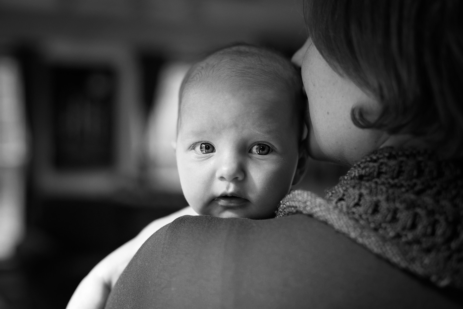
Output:
[[[410,133],[463,154],[460,0],[305,0],[309,36],[339,75],[382,105],[356,126]]]

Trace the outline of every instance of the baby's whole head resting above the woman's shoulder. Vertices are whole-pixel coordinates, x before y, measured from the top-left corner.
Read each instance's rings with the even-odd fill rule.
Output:
[[[195,63],[179,96],[176,159],[183,194],[198,214],[263,219],[304,172],[299,72],[251,45]]]

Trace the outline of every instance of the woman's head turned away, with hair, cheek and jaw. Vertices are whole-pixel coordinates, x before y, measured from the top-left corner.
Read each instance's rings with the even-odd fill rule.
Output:
[[[305,76],[314,157],[349,164],[400,140],[461,157],[459,1],[307,0],[304,10],[310,38],[294,62]],[[326,113],[344,114],[336,122]]]

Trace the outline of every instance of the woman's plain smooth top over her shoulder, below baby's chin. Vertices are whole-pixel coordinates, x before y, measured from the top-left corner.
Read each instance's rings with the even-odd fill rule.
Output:
[[[106,308],[462,308],[444,293],[303,214],[183,216],[144,243]]]

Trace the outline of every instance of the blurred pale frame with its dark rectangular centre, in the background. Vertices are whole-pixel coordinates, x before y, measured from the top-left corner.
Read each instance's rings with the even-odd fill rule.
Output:
[[[34,183],[44,195],[103,197],[138,177],[140,72],[124,45],[47,41],[33,81]]]

